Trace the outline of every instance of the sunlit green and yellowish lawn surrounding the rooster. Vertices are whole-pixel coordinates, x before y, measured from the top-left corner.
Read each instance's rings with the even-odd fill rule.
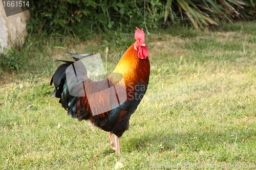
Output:
[[[130,130],[120,138],[121,156],[110,155],[108,133],[67,115],[51,98],[49,82],[60,64],[53,61],[71,59],[67,51],[101,53],[105,61],[108,46],[108,70],[113,70],[133,35],[110,41],[28,40],[25,50],[15,52],[20,68],[15,74],[5,71],[10,78],[2,75],[0,168],[113,169],[121,162],[122,169],[151,169],[151,164],[189,162],[227,163],[230,169],[229,163],[255,162],[255,27],[256,22],[243,22],[214,32],[151,33],[146,38],[150,83]]]

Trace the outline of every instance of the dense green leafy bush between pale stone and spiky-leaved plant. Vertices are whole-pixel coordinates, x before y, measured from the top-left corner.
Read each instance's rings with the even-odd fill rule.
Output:
[[[148,3],[147,3],[148,4]],[[164,6],[152,1],[151,12],[146,10],[147,27],[157,27],[164,16]],[[133,27],[144,25],[144,1],[33,1],[30,9],[31,21],[27,29],[31,33],[79,35],[84,37],[93,32],[130,32]]]

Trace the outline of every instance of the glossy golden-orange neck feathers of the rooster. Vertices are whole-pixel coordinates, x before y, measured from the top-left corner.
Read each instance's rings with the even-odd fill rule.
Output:
[[[126,50],[113,71],[123,76],[126,86],[133,87],[135,84],[146,84],[146,80],[148,76],[150,76],[150,60],[148,60],[148,57],[146,59],[140,59],[134,45],[135,44],[131,45]],[[115,78],[116,76],[114,75],[115,74],[111,74],[109,80],[113,84],[116,84],[119,81],[117,81],[118,78]]]

